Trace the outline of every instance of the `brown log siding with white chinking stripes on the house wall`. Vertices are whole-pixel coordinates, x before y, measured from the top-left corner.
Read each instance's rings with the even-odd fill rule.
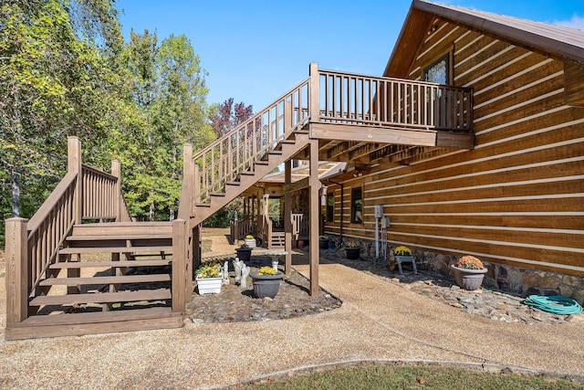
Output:
[[[437,20],[406,74],[452,49],[454,85],[474,89],[473,151],[404,166],[381,164],[344,182],[326,232],[374,240],[373,206],[391,217],[388,242],[584,276],[584,109],[564,101],[564,63]],[[387,75],[391,76],[391,75]],[[363,224],[349,221],[363,186]]]

